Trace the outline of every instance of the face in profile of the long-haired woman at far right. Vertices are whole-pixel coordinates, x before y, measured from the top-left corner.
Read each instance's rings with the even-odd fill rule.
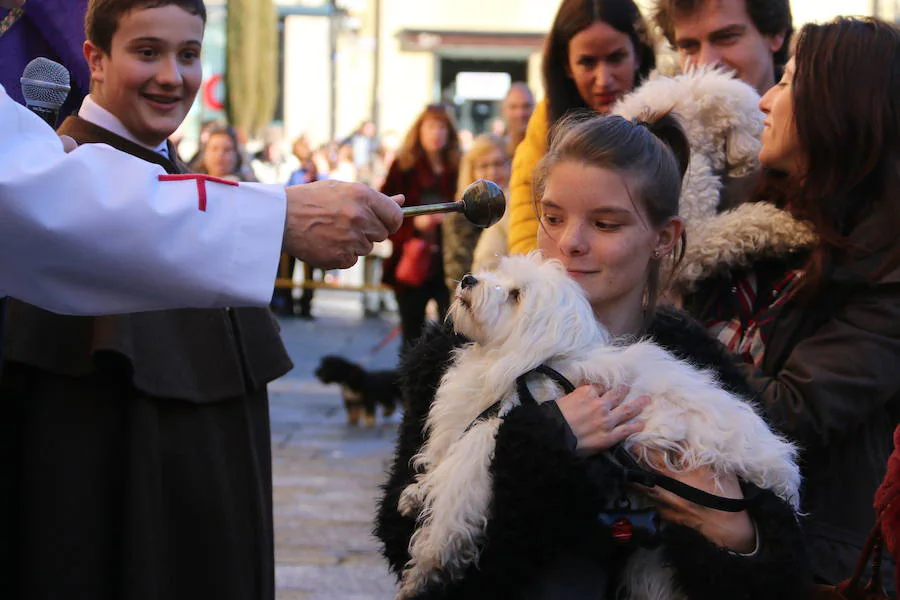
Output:
[[[794,74],[792,58],[784,67],[781,81],[759,101],[759,109],[766,115],[759,162],[770,169],[802,177],[806,170],[806,154],[800,147],[794,119]]]

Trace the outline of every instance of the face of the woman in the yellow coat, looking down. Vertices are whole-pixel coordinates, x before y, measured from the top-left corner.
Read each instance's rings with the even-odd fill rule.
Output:
[[[585,104],[605,114],[634,87],[639,65],[628,34],[598,21],[569,40],[566,73]]]

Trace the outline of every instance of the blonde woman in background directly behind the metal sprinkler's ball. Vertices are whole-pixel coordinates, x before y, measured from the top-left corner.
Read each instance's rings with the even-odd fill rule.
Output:
[[[479,179],[493,181],[504,194],[508,194],[509,155],[506,153],[506,143],[501,138],[483,134],[472,141],[472,147],[463,155],[459,165],[457,196],[461,196],[469,184]],[[499,254],[506,254],[508,222],[509,217],[504,214],[499,223],[485,231],[473,225],[461,213],[451,213],[444,217],[444,278],[451,294],[463,275],[472,270],[475,249],[482,244],[482,238],[488,238],[483,244],[482,252],[494,250]]]

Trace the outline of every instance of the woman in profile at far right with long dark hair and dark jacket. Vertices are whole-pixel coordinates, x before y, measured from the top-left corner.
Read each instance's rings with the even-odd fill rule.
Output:
[[[801,446],[806,541],[817,579],[836,583],[874,522],[900,420],[900,31],[805,26],[760,108],[768,182],[816,241],[723,270],[688,305]]]

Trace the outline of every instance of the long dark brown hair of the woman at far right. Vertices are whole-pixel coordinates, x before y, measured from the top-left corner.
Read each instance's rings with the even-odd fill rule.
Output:
[[[873,18],[839,17],[803,27],[791,86],[807,171],[789,209],[819,236],[805,276],[813,297],[836,262],[887,251],[869,276],[900,265],[900,30]],[[865,247],[850,234],[884,215]],[[877,239],[876,239],[877,238]]]

